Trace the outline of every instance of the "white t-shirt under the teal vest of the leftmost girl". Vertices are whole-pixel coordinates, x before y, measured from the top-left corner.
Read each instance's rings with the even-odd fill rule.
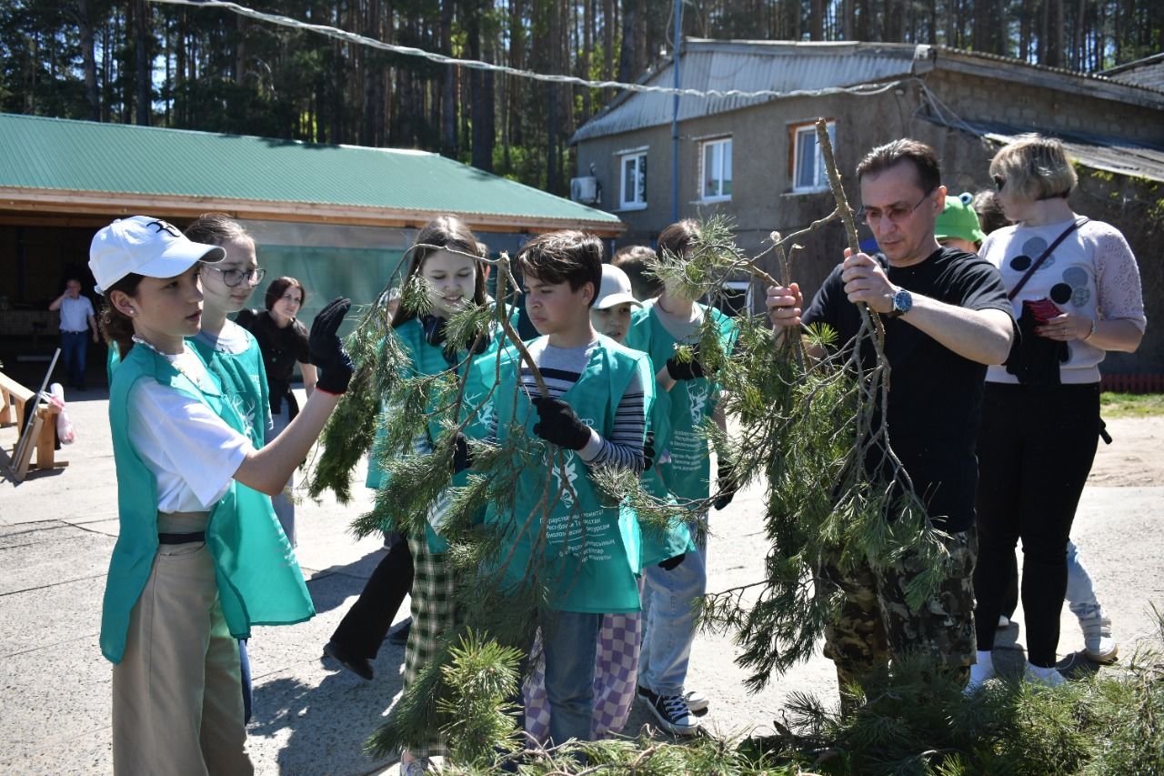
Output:
[[[194,382],[213,385],[189,345],[165,358]],[[129,442],[157,478],[158,512],[208,510],[254,450],[210,407],[155,380],[134,383],[129,407]]]

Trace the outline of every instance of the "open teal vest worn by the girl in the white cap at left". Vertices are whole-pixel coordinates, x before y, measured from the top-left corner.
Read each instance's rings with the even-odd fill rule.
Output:
[[[113,663],[120,663],[125,654],[129,615],[149,579],[158,546],[157,480],[129,442],[128,400],[139,380],[156,380],[186,394],[244,432],[242,418],[221,393],[203,391],[149,348],[134,347],[118,367],[109,388],[109,426],[120,532],[109,560],[100,637],[101,654]],[[315,614],[269,496],[232,481],[211,509],[206,544],[214,558],[219,601],[230,635],[247,639],[251,626],[291,625]]]

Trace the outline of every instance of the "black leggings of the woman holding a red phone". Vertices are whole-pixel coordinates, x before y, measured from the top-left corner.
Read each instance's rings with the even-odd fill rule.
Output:
[[[978,649],[994,647],[1022,539],[1027,658],[1055,665],[1067,590],[1067,538],[1099,443],[1099,383],[986,383],[978,435]]]

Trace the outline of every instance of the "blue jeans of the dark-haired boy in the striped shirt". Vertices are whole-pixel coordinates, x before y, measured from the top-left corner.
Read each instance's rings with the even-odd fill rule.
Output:
[[[594,661],[601,614],[551,612],[541,623],[546,652],[549,745],[590,740],[594,715]]]

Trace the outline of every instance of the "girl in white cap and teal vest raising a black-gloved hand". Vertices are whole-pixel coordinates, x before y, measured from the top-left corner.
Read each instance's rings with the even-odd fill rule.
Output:
[[[109,388],[121,524],[100,639],[114,664],[119,774],[253,773],[236,639],[314,614],[268,496],[347,389],[352,362],[335,332],[350,303],[336,299],[312,327],[320,390],[256,450],[185,340],[201,324],[199,270],[223,255],[146,216],[106,226],[90,248],[101,327],[123,354]]]

